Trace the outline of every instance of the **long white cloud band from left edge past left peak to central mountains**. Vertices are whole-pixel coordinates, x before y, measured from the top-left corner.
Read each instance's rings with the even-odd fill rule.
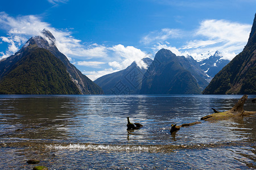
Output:
[[[51,3],[57,2],[64,1],[51,1]],[[25,44],[30,37],[41,35],[41,31],[46,28],[53,36],[55,36],[55,44],[57,48],[60,52],[64,53],[69,60],[71,60],[71,57],[77,58],[78,60],[84,60],[78,62],[73,61],[75,65],[98,69],[105,63],[109,63],[110,68],[108,69],[102,66],[101,71],[84,72],[89,73],[88,76],[92,79],[96,79],[104,74],[125,69],[134,61],[137,62],[140,67],[147,67],[144,62],[141,62],[141,59],[152,56],[151,54],[142,52],[142,50],[137,49],[134,46],[125,47],[119,44],[108,47],[98,45],[96,43],[84,45],[81,40],[75,39],[68,29],[53,28],[50,24],[42,22],[41,18],[35,15],[18,16],[13,18],[5,12],[0,12],[0,25],[1,28],[5,29],[7,32],[7,36],[0,37],[0,43],[5,42],[8,44],[6,52],[0,52],[1,58],[11,56],[11,54],[18,51],[18,49]],[[165,30],[165,32],[168,32],[168,30]],[[162,39],[164,39],[164,36],[162,36]],[[86,59],[89,61],[86,61]],[[97,59],[100,59],[100,61],[97,61]]]

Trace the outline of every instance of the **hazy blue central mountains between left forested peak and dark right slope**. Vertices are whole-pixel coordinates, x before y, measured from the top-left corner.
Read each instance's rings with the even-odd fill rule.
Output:
[[[168,49],[161,49],[154,61],[142,59],[147,68],[133,62],[125,70],[104,75],[94,82],[105,94],[201,94],[212,79],[204,69],[211,70],[210,75],[222,69],[226,60],[221,57],[220,52],[216,52],[201,61],[202,65],[191,56],[176,56]]]

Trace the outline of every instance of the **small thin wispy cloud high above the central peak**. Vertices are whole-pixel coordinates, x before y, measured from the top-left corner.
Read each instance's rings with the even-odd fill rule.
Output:
[[[181,37],[182,33],[180,29],[170,29],[163,28],[161,31],[154,31],[148,33],[148,35],[144,36],[141,40],[143,44],[150,44],[155,41],[165,41],[170,38]]]

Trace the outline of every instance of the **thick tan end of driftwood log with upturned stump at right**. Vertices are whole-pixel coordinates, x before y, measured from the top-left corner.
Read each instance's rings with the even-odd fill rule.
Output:
[[[243,104],[245,104],[247,97],[247,95],[243,95],[242,98],[229,111],[218,112],[215,109],[213,109],[215,113],[209,114],[208,116],[204,116],[201,118],[201,120],[218,121],[226,120],[229,118],[249,116],[250,114],[256,114],[256,111],[243,111]]]

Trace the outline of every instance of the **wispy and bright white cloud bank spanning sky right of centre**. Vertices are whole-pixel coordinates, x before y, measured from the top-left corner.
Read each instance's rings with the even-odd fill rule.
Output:
[[[151,43],[154,52],[161,48],[170,49],[176,55],[189,55],[200,60],[205,54],[219,50],[224,59],[233,59],[240,53],[249,38],[251,25],[229,22],[227,20],[204,20],[199,27],[192,32],[185,32],[179,29],[162,29],[159,32],[151,32],[143,37],[141,42]],[[179,36],[182,35],[190,36]],[[168,42],[180,37],[184,44],[179,47],[171,46]],[[203,55],[202,55],[203,54]]]

